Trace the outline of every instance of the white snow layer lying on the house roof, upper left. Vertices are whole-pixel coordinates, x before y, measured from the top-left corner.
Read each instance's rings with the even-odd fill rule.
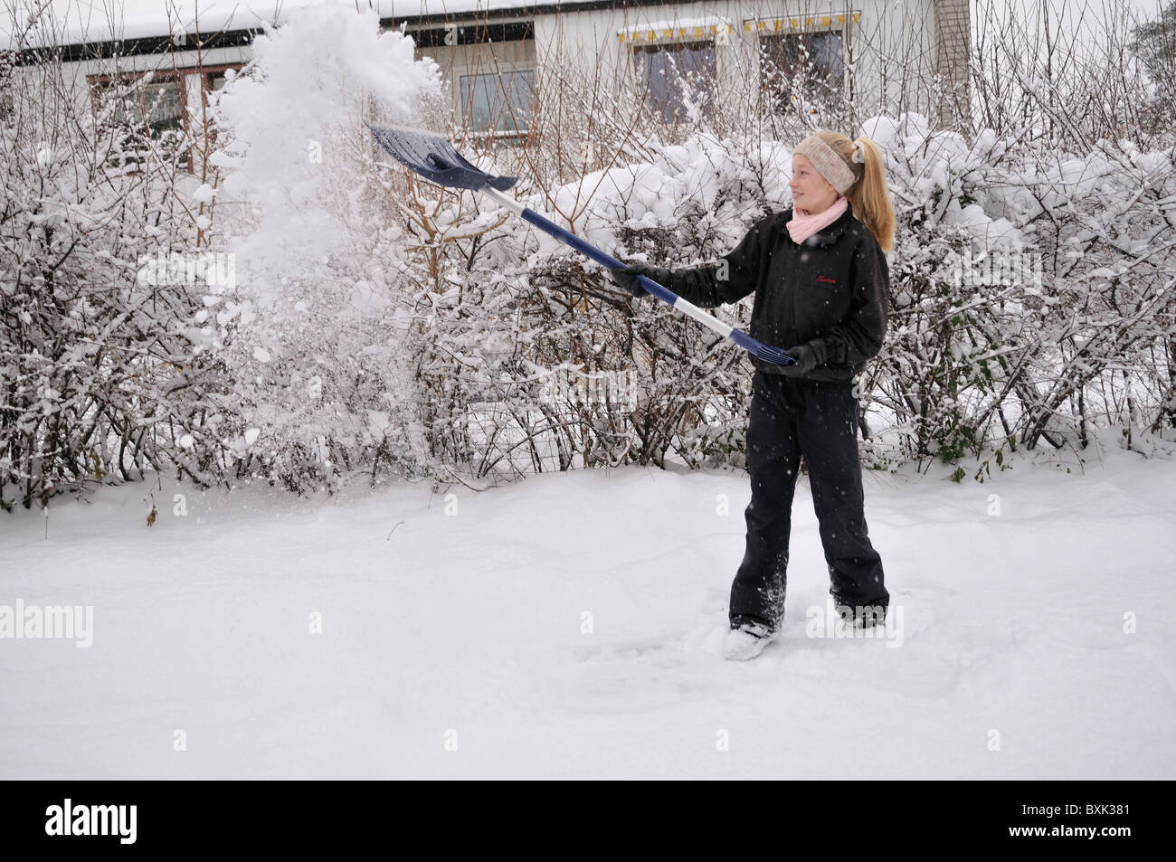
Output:
[[[15,0],[0,11],[0,47],[80,45],[166,36],[175,31],[215,33],[281,24],[292,12],[321,4],[370,7],[381,18],[413,19],[523,9],[557,0]],[[592,0],[559,0],[576,6]],[[28,27],[32,9],[44,9]],[[9,14],[14,11],[14,14]],[[27,29],[21,42],[20,34]]]

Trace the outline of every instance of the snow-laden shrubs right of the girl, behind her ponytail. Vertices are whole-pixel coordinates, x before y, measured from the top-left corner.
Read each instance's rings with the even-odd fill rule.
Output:
[[[1170,151],[1073,154],[991,132],[968,145],[909,116],[867,131],[904,228],[874,380],[909,454],[1171,427]]]

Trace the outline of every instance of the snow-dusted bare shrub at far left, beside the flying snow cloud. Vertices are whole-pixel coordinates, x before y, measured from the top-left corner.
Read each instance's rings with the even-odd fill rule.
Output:
[[[0,501],[147,468],[211,481],[226,382],[193,353],[202,288],[143,266],[194,245],[175,163],[56,61],[0,71]]]

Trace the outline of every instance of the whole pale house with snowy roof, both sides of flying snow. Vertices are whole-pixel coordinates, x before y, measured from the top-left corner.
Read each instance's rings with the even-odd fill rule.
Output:
[[[340,2],[342,0],[327,0]],[[0,32],[29,62],[60,52],[79,93],[153,72],[138,87],[135,120],[166,136],[200,122],[206,94],[249,60],[253,38],[298,8],[323,0],[126,0],[109,21],[58,0],[48,24]],[[354,6],[354,0],[346,0]],[[733,94],[797,109],[806,98],[843,95],[863,105],[915,109],[943,122],[969,106],[968,0],[372,0],[380,26],[401,28],[450,83],[467,131],[526,136],[541,82],[561,76],[597,96],[643,100],[654,118],[684,119]],[[178,14],[167,9],[178,8]],[[279,11],[275,13],[274,9]],[[195,14],[200,9],[200,14]],[[56,13],[60,16],[54,16]],[[0,25],[0,29],[4,26]],[[116,72],[112,72],[118,58]],[[688,85],[688,86],[687,86]]]

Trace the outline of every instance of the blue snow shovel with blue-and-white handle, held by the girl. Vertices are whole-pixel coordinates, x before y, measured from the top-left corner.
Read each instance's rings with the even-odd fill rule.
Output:
[[[368,128],[375,135],[376,142],[388,151],[396,161],[409,171],[420,174],[426,180],[432,180],[440,186],[448,186],[449,188],[468,188],[473,192],[481,192],[501,203],[509,212],[561,242],[566,242],[597,263],[609,269],[624,267],[624,263],[616,258],[604,254],[595,246],[590,246],[575,234],[564,230],[554,221],[544,219],[535,211],[528,209],[519,201],[502,194],[517,181],[517,176],[494,176],[493,174],[479,171],[470,162],[466,161],[447,139],[433,132],[400,127],[368,126]],[[747,333],[740,332],[717,318],[707,314],[693,302],[688,302],[676,293],[667,290],[653,279],[639,275],[637,282],[646,293],[653,294],[662,302],[666,302],[687,316],[694,318],[703,326],[714,329],[724,339],[730,339],[744,350],[766,362],[784,366],[793,365],[796,361],[781,348],[756,341]]]

